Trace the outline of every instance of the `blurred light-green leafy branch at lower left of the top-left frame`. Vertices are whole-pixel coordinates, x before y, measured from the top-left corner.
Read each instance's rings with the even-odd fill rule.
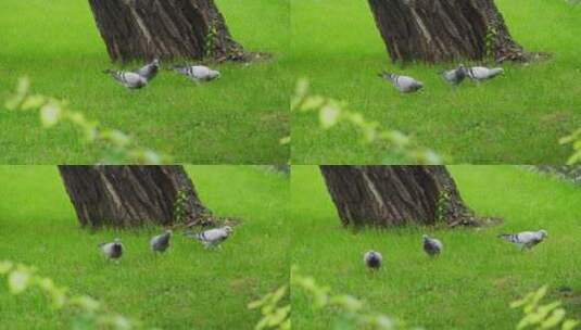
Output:
[[[8,110],[38,111],[40,123],[51,128],[59,123],[70,123],[81,131],[85,142],[104,145],[103,164],[163,164],[169,157],[153,150],[140,148],[136,141],[121,130],[102,128],[97,122],[88,120],[83,113],[68,110],[68,104],[53,98],[29,92],[30,82],[22,78],[16,91],[7,101]]]

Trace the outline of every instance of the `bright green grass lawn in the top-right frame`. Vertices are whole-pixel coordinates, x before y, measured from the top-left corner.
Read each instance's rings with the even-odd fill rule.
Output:
[[[564,163],[558,139],[581,127],[581,7],[563,0],[496,0],[517,41],[551,52],[550,61],[504,65],[505,75],[457,90],[437,72],[451,65],[391,63],[367,1],[305,0],[291,7],[289,67],[312,92],[346,101],[383,127],[396,128],[458,163]],[[469,64],[469,63],[465,63]],[[400,94],[380,69],[425,82]],[[365,147],[351,126],[329,131],[312,115],[292,116],[293,164],[377,164],[380,147]]]

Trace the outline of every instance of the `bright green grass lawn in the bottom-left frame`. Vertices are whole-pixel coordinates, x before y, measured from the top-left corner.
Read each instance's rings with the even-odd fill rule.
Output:
[[[89,294],[112,310],[161,329],[253,329],[260,312],[247,304],[289,277],[288,178],[249,166],[188,166],[202,201],[218,215],[243,219],[222,251],[177,233],[154,257],[161,229],[89,232],[77,220],[55,166],[0,166],[0,261],[34,265],[39,274]],[[244,193],[240,193],[243,191]],[[97,244],[123,239],[126,255],[108,263]],[[1,329],[65,329],[38,292],[20,296],[0,283]]]

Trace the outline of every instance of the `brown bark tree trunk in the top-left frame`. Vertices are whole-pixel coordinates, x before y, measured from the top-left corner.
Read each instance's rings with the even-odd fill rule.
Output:
[[[244,60],[214,0],[89,0],[113,61]]]

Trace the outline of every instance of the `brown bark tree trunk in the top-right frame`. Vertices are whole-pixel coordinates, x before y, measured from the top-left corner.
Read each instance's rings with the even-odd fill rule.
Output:
[[[394,62],[529,58],[494,0],[369,0],[369,5]]]

